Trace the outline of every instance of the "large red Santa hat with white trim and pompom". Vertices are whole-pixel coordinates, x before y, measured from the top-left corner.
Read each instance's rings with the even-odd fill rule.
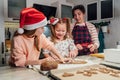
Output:
[[[47,19],[42,12],[34,8],[25,8],[20,13],[20,28],[18,29],[18,33],[22,34],[24,33],[24,29],[34,30],[46,24]]]

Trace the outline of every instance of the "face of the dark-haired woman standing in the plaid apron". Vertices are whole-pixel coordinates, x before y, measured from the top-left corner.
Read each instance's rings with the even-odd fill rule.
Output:
[[[84,15],[79,9],[76,9],[74,11],[74,19],[77,23],[83,23],[84,22]]]

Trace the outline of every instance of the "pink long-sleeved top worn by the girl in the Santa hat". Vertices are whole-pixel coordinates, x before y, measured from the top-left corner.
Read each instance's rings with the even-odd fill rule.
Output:
[[[53,48],[52,43],[45,37],[44,34],[39,36],[39,48],[51,50]],[[28,38],[23,35],[19,35],[13,38],[14,44],[12,45],[10,60],[16,66],[24,66],[27,60],[38,60],[40,51],[37,51],[34,46],[34,38]]]

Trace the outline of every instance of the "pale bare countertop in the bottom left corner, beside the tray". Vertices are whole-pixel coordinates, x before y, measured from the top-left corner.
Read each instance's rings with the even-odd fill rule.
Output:
[[[0,67],[0,80],[50,80],[32,69]]]

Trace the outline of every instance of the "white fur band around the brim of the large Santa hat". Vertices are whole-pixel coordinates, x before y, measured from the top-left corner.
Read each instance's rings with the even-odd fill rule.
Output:
[[[47,19],[43,19],[42,21],[38,22],[38,23],[35,23],[35,24],[30,24],[30,25],[24,25],[24,29],[26,30],[34,30],[34,29],[37,29],[39,27],[43,27],[47,25]]]

